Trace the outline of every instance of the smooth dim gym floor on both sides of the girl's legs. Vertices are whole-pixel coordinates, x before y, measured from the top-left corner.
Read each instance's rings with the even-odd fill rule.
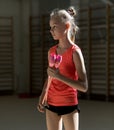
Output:
[[[0,130],[46,130],[38,98],[0,96]],[[114,102],[79,100],[80,130],[114,130]]]

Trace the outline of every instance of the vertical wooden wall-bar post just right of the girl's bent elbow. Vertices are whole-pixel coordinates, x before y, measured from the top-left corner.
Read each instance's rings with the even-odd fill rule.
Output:
[[[88,99],[91,95],[91,7],[88,8]]]

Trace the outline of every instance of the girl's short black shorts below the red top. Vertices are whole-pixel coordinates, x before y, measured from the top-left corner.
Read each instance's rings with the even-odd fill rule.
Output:
[[[74,105],[74,106],[45,106],[46,109],[57,113],[58,115],[65,115],[65,114],[69,114],[75,110],[77,110],[78,112],[80,112],[79,106],[78,105]]]

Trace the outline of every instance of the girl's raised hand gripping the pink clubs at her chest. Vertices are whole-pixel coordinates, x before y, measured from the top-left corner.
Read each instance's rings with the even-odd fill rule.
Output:
[[[48,67],[47,74],[50,77],[57,78],[60,75],[60,72],[59,72],[59,69]]]

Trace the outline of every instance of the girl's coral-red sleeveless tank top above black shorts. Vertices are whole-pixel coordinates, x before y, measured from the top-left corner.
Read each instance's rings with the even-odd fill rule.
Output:
[[[57,45],[50,48],[50,54],[56,54],[56,49]],[[59,66],[60,73],[73,80],[78,80],[78,74],[73,62],[73,51],[76,49],[79,49],[79,47],[75,45],[72,45],[70,48],[68,48],[62,54],[62,62]],[[77,89],[74,89],[57,79],[52,79],[48,90],[47,102],[49,105],[54,106],[77,105]]]

